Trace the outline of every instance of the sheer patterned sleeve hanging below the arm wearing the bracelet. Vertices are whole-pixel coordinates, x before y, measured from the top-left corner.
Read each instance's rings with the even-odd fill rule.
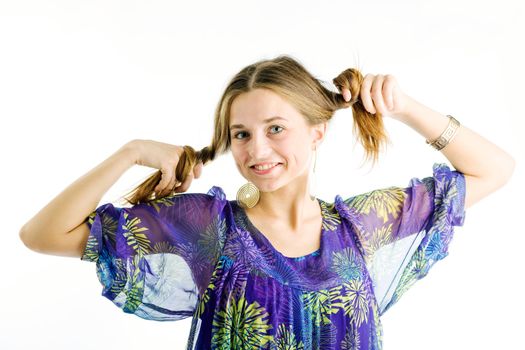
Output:
[[[336,198],[352,222],[380,314],[448,255],[453,227],[464,223],[465,190],[463,173],[434,163],[433,176],[412,178],[408,187]]]

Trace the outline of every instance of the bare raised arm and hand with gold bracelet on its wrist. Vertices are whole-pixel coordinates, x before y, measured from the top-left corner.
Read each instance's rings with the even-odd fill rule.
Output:
[[[350,91],[344,89],[343,94],[349,100]],[[439,137],[449,122],[444,114],[403,93],[390,74],[367,74],[360,97],[370,113],[401,121],[427,140]],[[441,152],[457,171],[465,175],[465,208],[505,185],[514,172],[515,161],[510,154],[464,125],[458,128]]]

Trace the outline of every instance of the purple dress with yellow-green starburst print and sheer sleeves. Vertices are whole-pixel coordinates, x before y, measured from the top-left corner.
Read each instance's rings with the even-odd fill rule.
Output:
[[[87,220],[81,259],[102,295],[155,321],[192,317],[187,349],[381,349],[380,316],[438,260],[462,226],[465,178],[445,163],[333,203],[317,199],[321,247],[286,257],[220,187]]]

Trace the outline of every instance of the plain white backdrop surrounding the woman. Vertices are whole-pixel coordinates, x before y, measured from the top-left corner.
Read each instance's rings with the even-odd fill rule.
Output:
[[[35,253],[18,232],[129,140],[208,145],[227,81],[279,54],[328,84],[357,63],[363,74],[393,74],[404,92],[515,157],[512,180],[467,209],[449,256],[382,323],[388,350],[522,344],[524,14],[517,0],[1,1],[0,348],[185,349],[191,318],[125,314],[100,295],[94,263]],[[318,151],[321,199],[408,185],[448,162],[387,118],[393,145],[372,171],[358,169],[351,117],[337,112]],[[153,172],[131,168],[100,204]],[[219,185],[234,199],[243,183],[228,153],[189,192]]]

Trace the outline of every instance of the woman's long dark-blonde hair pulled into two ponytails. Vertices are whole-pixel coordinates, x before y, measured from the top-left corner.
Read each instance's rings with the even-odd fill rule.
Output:
[[[330,120],[334,112],[339,109],[352,107],[354,135],[365,150],[365,159],[371,158],[374,165],[383,144],[388,142],[388,137],[383,126],[382,115],[379,112],[376,114],[368,112],[360,100],[363,75],[358,69],[349,68],[341,72],[332,82],[340,93],[326,89],[320,80],[289,55],[263,59],[246,66],[227,84],[215,109],[211,144],[199,151],[188,145],[183,146],[184,152],[175,170],[177,180],[184,182],[196,164],[199,162],[206,164],[229,150],[231,105],[237,96],[253,89],[268,89],[279,94],[292,104],[311,126]],[[341,93],[343,88],[350,90],[352,94],[350,101],[345,101],[343,98]],[[125,199],[133,205],[153,200],[154,189],[160,182],[161,176],[161,171],[157,171],[133,189],[129,193],[131,196]]]

